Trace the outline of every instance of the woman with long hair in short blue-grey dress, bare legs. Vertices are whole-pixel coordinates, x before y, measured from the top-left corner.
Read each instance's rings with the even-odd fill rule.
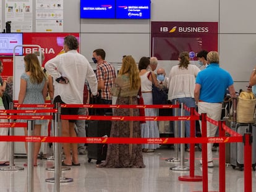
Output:
[[[25,72],[20,76],[20,92],[19,104],[44,104],[47,94],[46,75],[41,69],[38,57],[35,54],[27,54],[24,57]],[[32,108],[21,108],[32,109]],[[35,108],[36,109],[36,108]],[[38,109],[38,108],[37,108]],[[39,108],[40,109],[40,108]],[[33,114],[27,114],[33,115]],[[20,122],[27,122],[27,120],[20,120]],[[35,120],[34,135],[40,136],[41,125],[46,123],[46,120]],[[24,128],[25,135],[28,135],[27,127]],[[37,166],[37,157],[40,150],[41,143],[35,143],[33,151],[33,165]],[[27,142],[25,142],[27,151]],[[25,166],[27,164],[24,164]]]

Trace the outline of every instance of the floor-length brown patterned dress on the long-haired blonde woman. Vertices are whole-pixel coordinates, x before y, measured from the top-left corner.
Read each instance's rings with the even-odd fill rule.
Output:
[[[116,78],[116,83],[121,85],[116,104],[137,104],[139,90],[129,91],[130,81],[127,75]],[[128,96],[130,94],[130,96]],[[139,109],[115,109],[114,116],[139,116]],[[141,138],[139,121],[113,121],[111,137],[118,138]],[[141,144],[108,144],[106,161],[99,167],[113,168],[143,168]]]

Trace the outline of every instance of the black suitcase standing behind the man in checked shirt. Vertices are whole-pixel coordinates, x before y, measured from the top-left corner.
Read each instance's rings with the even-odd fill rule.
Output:
[[[93,115],[96,115],[96,113],[96,110],[92,110]],[[105,115],[112,115],[112,113],[106,113]],[[88,137],[108,137],[110,135],[110,130],[110,120],[88,120],[86,133]],[[88,162],[91,162],[92,159],[96,159],[96,164],[100,164],[101,161],[104,161],[106,159],[107,149],[108,144],[88,143]]]

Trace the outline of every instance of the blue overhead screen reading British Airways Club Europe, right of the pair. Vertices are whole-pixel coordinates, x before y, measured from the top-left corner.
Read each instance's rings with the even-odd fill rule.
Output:
[[[150,19],[150,0],[116,0],[116,19]]]

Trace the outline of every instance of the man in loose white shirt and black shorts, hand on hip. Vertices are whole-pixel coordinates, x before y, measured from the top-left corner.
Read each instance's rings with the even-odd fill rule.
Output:
[[[54,78],[54,103],[83,104],[83,88],[87,79],[93,95],[97,94],[97,79],[88,60],[77,52],[79,43],[73,35],[64,38],[64,54],[59,54],[45,64],[45,69]],[[79,108],[62,108],[63,115],[77,115]],[[77,136],[74,129],[75,120],[61,120],[62,136]],[[63,143],[66,159],[62,165],[80,165],[77,143]]]

